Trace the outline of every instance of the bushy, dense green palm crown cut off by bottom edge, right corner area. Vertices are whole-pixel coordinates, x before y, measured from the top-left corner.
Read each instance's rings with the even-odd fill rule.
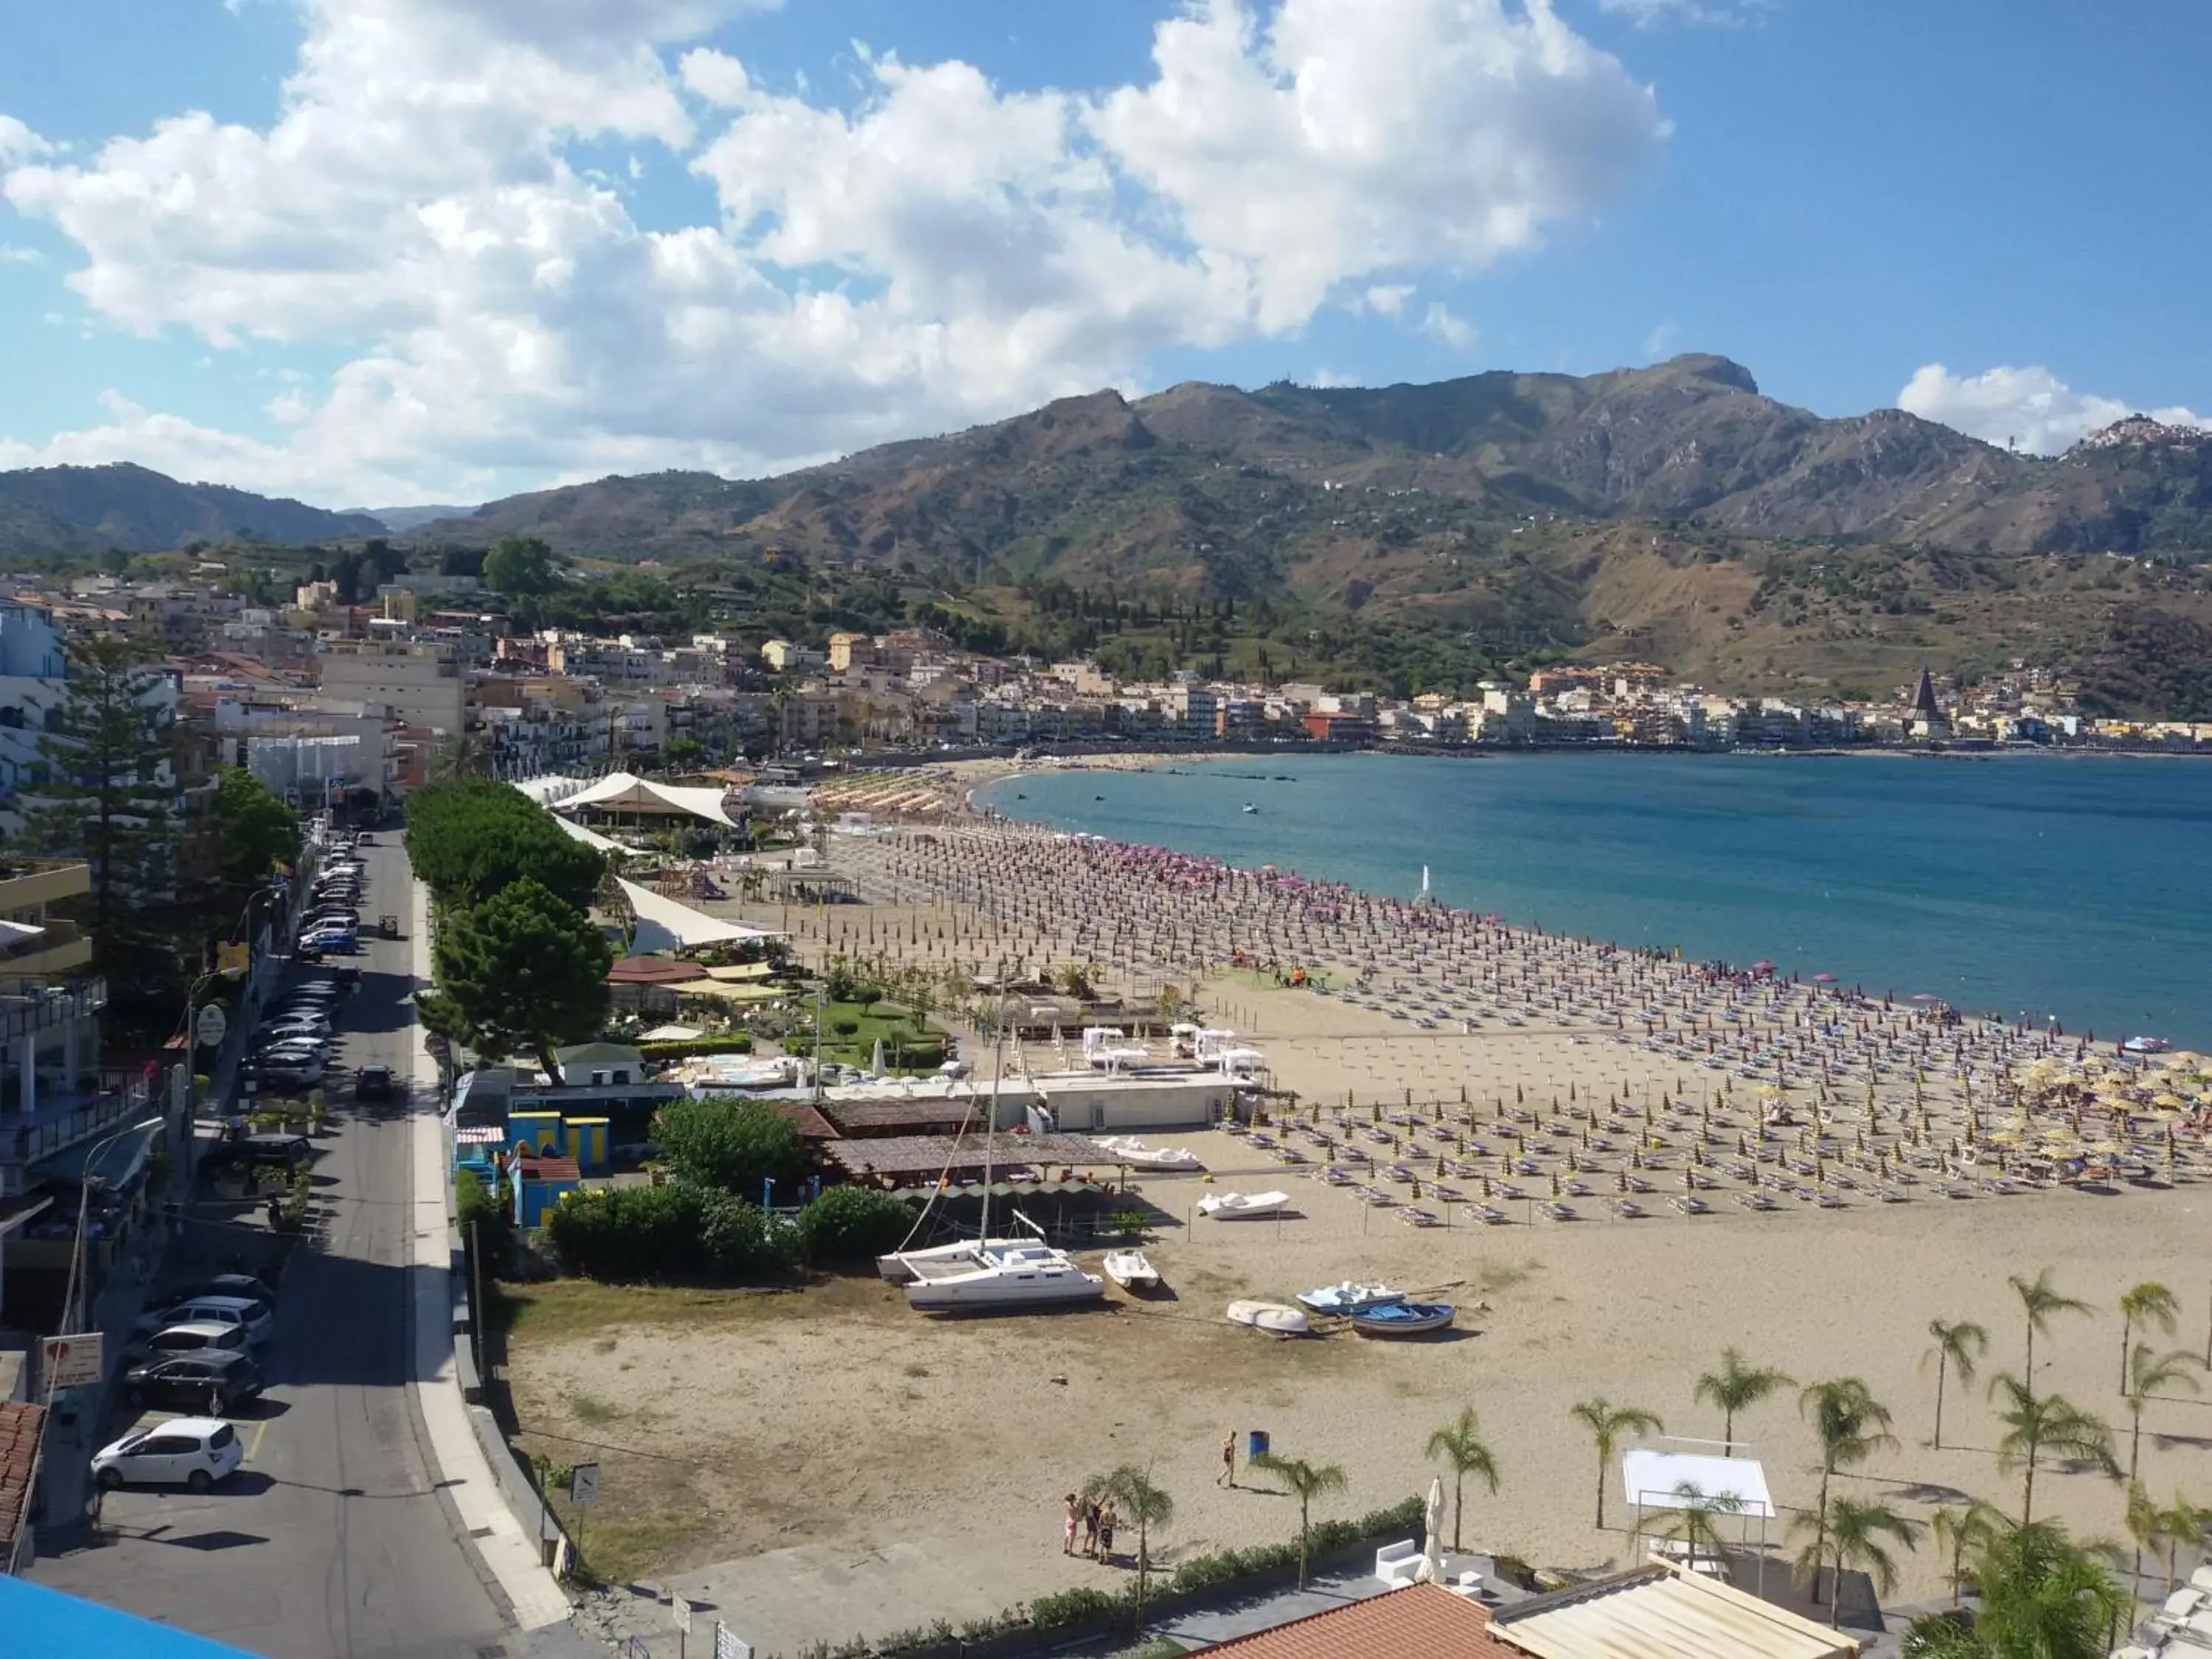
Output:
[[[1931,1613],[1905,1632],[1907,1659],[2104,1659],[2128,1595],[2057,1522],[2000,1524],[1973,1548],[1982,1606],[1966,1630]]]

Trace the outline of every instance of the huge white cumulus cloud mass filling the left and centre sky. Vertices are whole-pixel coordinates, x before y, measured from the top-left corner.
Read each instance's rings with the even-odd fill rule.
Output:
[[[0,115],[0,197],[75,243],[106,325],[343,352],[268,440],[115,405],[4,451],[166,460],[321,500],[763,471],[1042,398],[1157,352],[1396,314],[1588,219],[1657,157],[1648,86],[1548,0],[1192,0],[1126,86],[1013,91],[858,53],[858,100],[761,86],[710,31],[763,0],[296,0],[268,126],[177,111],[55,153]],[[644,228],[613,142],[712,186]],[[633,168],[635,177],[635,168]],[[1471,327],[1431,305],[1420,323]]]

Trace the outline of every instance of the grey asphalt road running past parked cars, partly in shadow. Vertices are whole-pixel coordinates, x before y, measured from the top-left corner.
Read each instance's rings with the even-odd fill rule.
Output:
[[[365,847],[361,911],[409,916],[398,836]],[[367,940],[334,1064],[409,1075],[409,940]],[[206,1498],[119,1491],[106,1542],[31,1577],[270,1659],[507,1659],[504,1606],[438,1489],[414,1391],[409,1108],[330,1088],[319,1241],[279,1285],[270,1391],[239,1416],[246,1469]],[[131,1425],[131,1409],[108,1438]],[[4,1641],[0,1641],[4,1648]]]

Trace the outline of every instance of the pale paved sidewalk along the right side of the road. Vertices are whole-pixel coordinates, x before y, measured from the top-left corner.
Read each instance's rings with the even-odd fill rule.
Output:
[[[414,929],[414,980],[416,989],[429,984],[429,894],[422,883],[414,885],[409,925]],[[416,1347],[416,1400],[422,1409],[422,1427],[429,1431],[429,1451],[438,1473],[451,1482],[447,1493],[460,1513],[462,1526],[484,1559],[500,1593],[515,1610],[515,1624],[524,1632],[542,1632],[549,1626],[568,1621],[568,1595],[553,1573],[546,1571],[538,1553],[538,1540],[522,1531],[513,1511],[500,1495],[500,1482],[484,1460],[484,1449],[469,1427],[469,1407],[460,1398],[460,1383],[453,1371],[453,1287],[451,1252],[447,1245],[451,1228],[451,1183],[447,1181],[445,1124],[438,1117],[438,1062],[431,1060],[427,1035],[414,1026],[409,1060],[414,1068],[414,1113],[411,1135],[411,1179],[409,1203],[414,1214],[409,1265],[414,1267],[414,1347]]]

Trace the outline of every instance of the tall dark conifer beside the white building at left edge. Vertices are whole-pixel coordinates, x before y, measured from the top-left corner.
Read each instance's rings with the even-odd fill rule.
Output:
[[[175,951],[148,925],[148,911],[175,898],[175,706],[128,639],[82,635],[62,655],[66,675],[38,739],[42,776],[22,790],[18,845],[91,865],[82,920],[93,962],[131,1000],[133,989],[175,978]]]

